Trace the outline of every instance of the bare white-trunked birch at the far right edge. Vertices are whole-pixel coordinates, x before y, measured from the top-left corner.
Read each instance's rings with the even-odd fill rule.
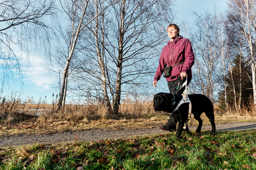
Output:
[[[251,66],[253,101],[256,106],[256,61],[254,50],[256,38],[255,5],[256,2],[254,0],[230,0],[228,3],[227,20],[231,31],[236,35],[246,38],[247,43],[242,43],[247,49],[243,56]]]

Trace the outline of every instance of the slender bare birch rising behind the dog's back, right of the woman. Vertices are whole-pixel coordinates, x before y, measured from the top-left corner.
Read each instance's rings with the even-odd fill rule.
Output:
[[[191,40],[195,54],[195,66],[197,74],[193,74],[196,92],[206,95],[215,102],[216,90],[219,88],[218,75],[221,71],[221,60],[219,59],[222,46],[222,37],[218,39],[218,26],[214,15],[204,13],[198,15],[195,30],[191,29],[187,36]],[[200,83],[199,83],[200,82]],[[192,83],[193,84],[193,83]]]

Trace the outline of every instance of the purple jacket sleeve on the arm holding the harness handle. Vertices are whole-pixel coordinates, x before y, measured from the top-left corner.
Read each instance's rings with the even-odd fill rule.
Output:
[[[193,66],[195,62],[195,56],[193,53],[191,43],[188,39],[186,39],[184,45],[185,45],[185,61],[184,61],[181,72],[188,73],[189,69]]]

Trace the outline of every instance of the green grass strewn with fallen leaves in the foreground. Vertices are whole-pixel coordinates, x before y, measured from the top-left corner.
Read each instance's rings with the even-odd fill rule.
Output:
[[[191,135],[174,133],[98,142],[74,142],[0,149],[0,169],[256,169],[256,130]],[[26,167],[26,168],[24,168]],[[112,168],[113,167],[113,168]]]

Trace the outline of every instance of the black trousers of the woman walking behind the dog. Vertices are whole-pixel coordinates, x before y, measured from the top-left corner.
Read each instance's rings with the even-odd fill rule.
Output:
[[[180,78],[179,78],[179,79],[176,79],[176,80],[174,80],[174,81],[167,81],[168,87],[169,87],[169,90],[170,90],[170,93],[173,94],[173,93],[176,91],[176,88],[177,88],[177,86],[178,86],[179,80],[180,80]],[[183,84],[185,81],[186,81],[186,78],[183,78],[181,84]],[[191,81],[191,77],[188,77],[187,86],[188,86],[188,84],[190,83],[190,81]],[[173,89],[171,86],[172,86],[174,89]],[[186,86],[182,87],[182,88],[177,92],[177,94],[178,94],[178,95],[181,95],[181,94],[184,92],[185,88],[186,88]],[[170,114],[169,117],[170,117],[170,119],[167,120],[167,123],[172,124],[172,126],[176,126],[177,120],[174,120],[172,114]]]

